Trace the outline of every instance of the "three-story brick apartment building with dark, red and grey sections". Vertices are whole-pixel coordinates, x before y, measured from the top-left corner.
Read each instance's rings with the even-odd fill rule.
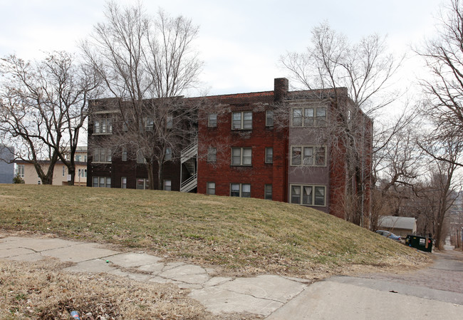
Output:
[[[344,96],[337,101],[350,103],[346,89],[336,93]],[[186,104],[202,100],[204,105],[197,114],[197,136],[180,155],[169,154],[161,185],[165,190],[291,202],[342,215],[347,187],[343,149],[327,137],[328,123],[335,121],[332,96],[330,89],[288,91],[288,80],[276,78],[274,91],[184,98]],[[122,126],[120,111],[108,107],[108,101],[90,105],[88,148],[94,152],[88,157],[87,185],[145,189],[150,182],[142,161],[122,150],[107,149],[102,155],[104,139],[117,130],[113,127]],[[363,185],[364,210],[369,211],[373,123],[362,119],[363,180],[351,182],[354,188]]]

